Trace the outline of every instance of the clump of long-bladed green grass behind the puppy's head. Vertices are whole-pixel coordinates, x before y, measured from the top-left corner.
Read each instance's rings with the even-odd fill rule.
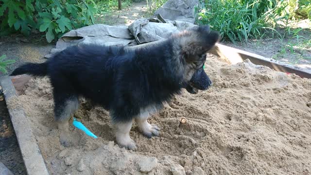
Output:
[[[195,7],[196,23],[209,24],[232,42],[274,35],[284,0],[205,0]]]

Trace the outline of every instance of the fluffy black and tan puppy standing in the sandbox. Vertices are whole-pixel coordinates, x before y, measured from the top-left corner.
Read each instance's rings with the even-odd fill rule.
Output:
[[[172,35],[165,42],[139,49],[118,46],[73,46],[42,64],[27,63],[11,75],[49,76],[53,87],[55,120],[66,143],[69,118],[80,96],[109,110],[117,143],[136,150],[129,136],[133,120],[148,138],[159,128],[148,116],[163,107],[182,88],[190,93],[211,85],[203,70],[206,53],[218,41],[208,26]],[[66,134],[67,133],[67,134]]]

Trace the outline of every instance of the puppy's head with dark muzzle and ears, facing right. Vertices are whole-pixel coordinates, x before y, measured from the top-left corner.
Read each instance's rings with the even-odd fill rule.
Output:
[[[205,25],[196,26],[176,36],[175,44],[180,49],[181,62],[184,65],[184,88],[190,93],[207,90],[212,82],[205,73],[203,65],[207,51],[219,40],[218,32],[210,31],[209,26]]]

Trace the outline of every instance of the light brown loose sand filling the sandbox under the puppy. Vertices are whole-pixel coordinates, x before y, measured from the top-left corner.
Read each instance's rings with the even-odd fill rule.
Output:
[[[116,145],[108,112],[88,102],[75,117],[99,138],[71,125],[75,146],[63,147],[48,78],[30,80],[8,107],[24,108],[51,175],[311,174],[311,80],[214,55],[206,72],[211,88],[184,91],[149,119],[159,137],[133,125],[136,152]]]

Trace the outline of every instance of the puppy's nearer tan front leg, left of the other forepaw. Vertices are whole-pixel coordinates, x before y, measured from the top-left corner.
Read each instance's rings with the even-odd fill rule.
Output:
[[[119,122],[113,123],[114,132],[116,136],[117,143],[120,147],[125,147],[133,151],[137,150],[136,143],[130,137],[130,130],[132,128],[132,121],[130,122]]]

